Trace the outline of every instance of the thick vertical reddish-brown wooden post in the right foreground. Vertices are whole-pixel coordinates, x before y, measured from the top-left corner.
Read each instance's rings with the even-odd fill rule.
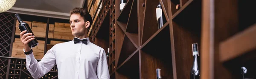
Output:
[[[200,79],[214,79],[214,0],[202,0],[201,26],[201,76]],[[210,17],[211,16],[211,17]]]

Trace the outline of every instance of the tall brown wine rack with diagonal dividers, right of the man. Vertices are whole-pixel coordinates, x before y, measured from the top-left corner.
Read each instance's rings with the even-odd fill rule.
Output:
[[[189,79],[191,45],[201,44],[201,0],[127,0],[122,11],[120,0],[102,2],[97,18],[100,21],[93,26],[90,38],[99,38],[94,36],[99,32],[107,33],[97,29],[109,25],[109,40],[105,40],[109,43],[104,44],[110,48],[111,79],[154,79],[157,68],[161,68],[163,79]],[[166,20],[160,29],[155,12],[158,3]],[[176,9],[177,4],[180,6]],[[109,5],[110,11],[105,11],[109,9],[104,6]]]

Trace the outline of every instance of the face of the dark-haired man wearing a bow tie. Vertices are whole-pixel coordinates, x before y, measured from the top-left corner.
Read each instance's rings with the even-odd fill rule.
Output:
[[[90,22],[84,22],[84,18],[80,14],[72,14],[70,16],[70,28],[73,36],[79,37],[87,34],[86,28],[88,28]]]

